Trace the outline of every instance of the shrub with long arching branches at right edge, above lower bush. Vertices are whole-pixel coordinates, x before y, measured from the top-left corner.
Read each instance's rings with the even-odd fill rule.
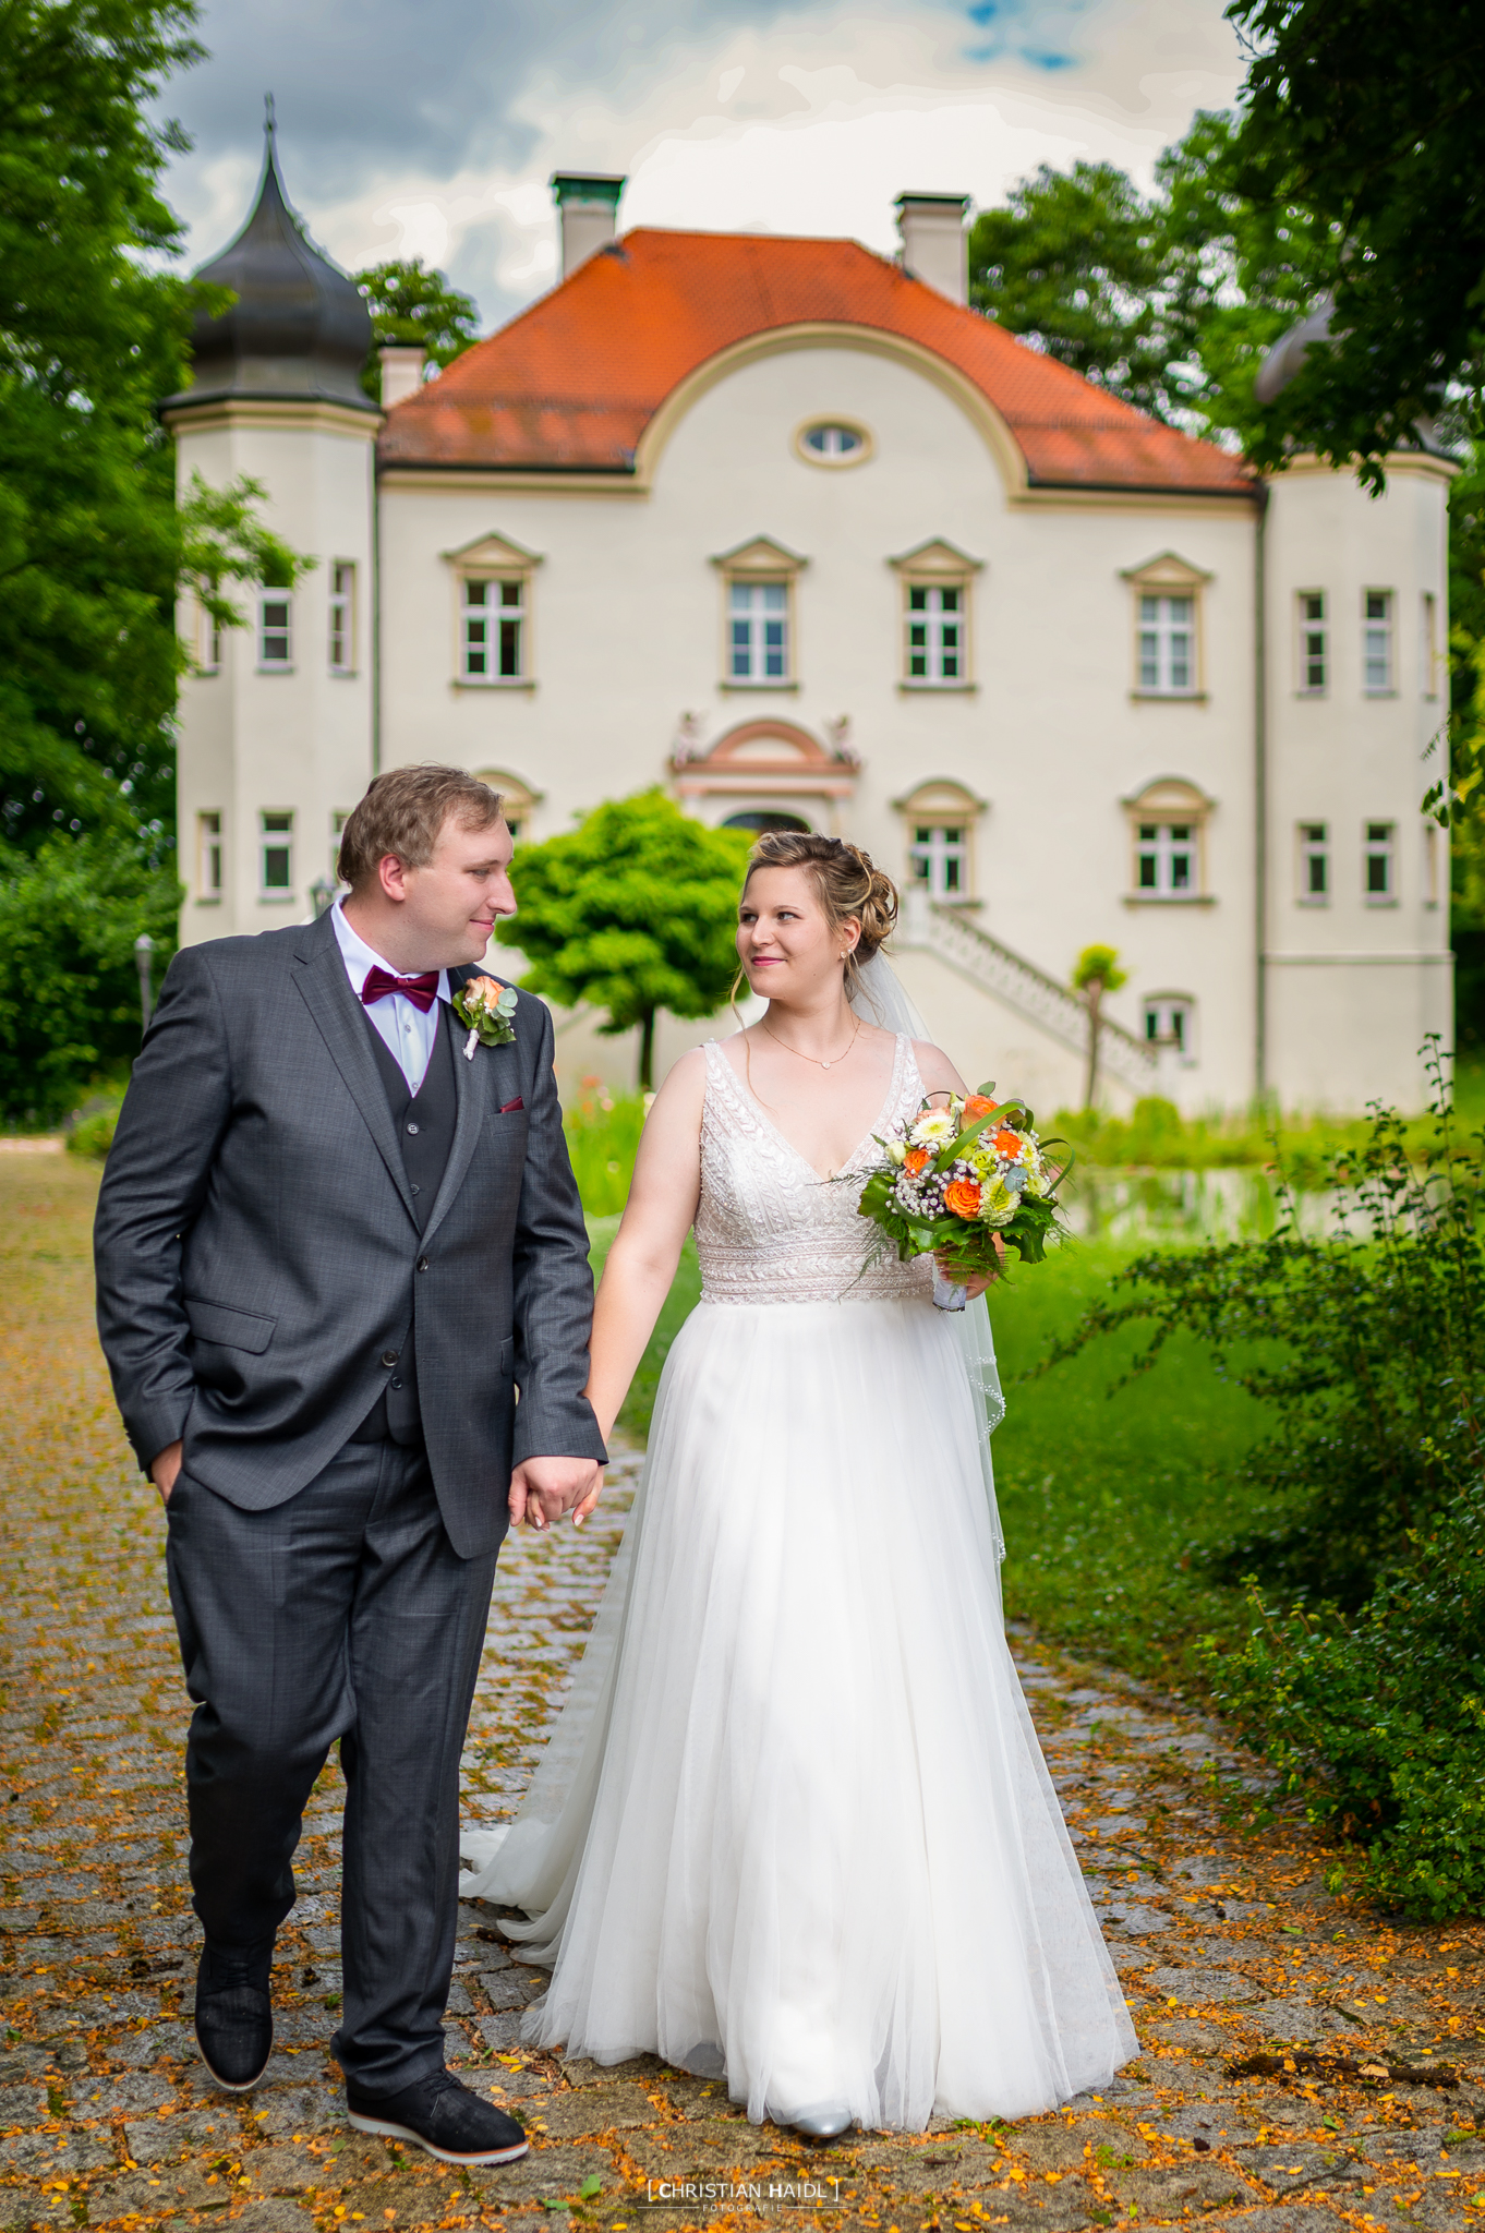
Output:
[[[1130,1371],[1146,1371],[1186,1329],[1277,1413],[1246,1463],[1266,1516],[1208,1552],[1219,1581],[1257,1574],[1355,1610],[1407,1530],[1478,1480],[1483,1146],[1460,1141],[1443,1085],[1414,1159],[1400,1119],[1373,1108],[1364,1143],[1329,1172],[1355,1190],[1340,1233],[1306,1239],[1286,1199],[1266,1239],[1139,1257],[1114,1282],[1123,1293],[1058,1344],[1050,1362],[1141,1322],[1150,1340]]]

